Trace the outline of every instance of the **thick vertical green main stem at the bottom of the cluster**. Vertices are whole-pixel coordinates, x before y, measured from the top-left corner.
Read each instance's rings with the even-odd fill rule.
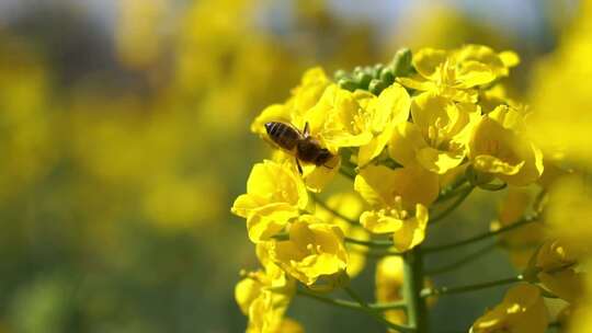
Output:
[[[420,297],[423,287],[423,259],[420,246],[407,252],[403,257],[403,299],[407,302],[408,324],[418,333],[428,332],[428,308]]]

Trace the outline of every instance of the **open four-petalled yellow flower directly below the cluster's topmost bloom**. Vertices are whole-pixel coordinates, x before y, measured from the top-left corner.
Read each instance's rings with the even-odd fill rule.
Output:
[[[444,174],[465,159],[470,129],[479,120],[479,106],[455,103],[433,93],[422,93],[411,103],[413,123],[402,123],[392,133],[390,157],[402,165],[419,162]]]

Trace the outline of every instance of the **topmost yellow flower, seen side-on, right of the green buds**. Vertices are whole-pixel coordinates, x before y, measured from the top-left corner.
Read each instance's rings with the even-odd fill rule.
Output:
[[[517,65],[511,53],[496,54],[491,48],[467,45],[456,50],[422,48],[413,56],[418,74],[397,80],[411,89],[432,91],[458,102],[476,103],[478,85],[493,82]]]

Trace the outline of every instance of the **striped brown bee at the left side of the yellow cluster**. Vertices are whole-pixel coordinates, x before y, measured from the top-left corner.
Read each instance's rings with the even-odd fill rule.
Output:
[[[292,124],[281,122],[265,123],[265,130],[275,145],[296,158],[296,165],[300,174],[303,174],[300,161],[320,166],[333,158],[329,149],[322,148],[320,142],[310,136],[308,123],[305,124],[304,131],[298,130]]]

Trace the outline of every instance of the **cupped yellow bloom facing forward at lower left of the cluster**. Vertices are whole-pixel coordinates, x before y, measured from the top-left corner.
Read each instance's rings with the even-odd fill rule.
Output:
[[[311,215],[300,216],[291,226],[288,240],[273,240],[270,256],[287,274],[318,291],[348,282],[343,232]]]

